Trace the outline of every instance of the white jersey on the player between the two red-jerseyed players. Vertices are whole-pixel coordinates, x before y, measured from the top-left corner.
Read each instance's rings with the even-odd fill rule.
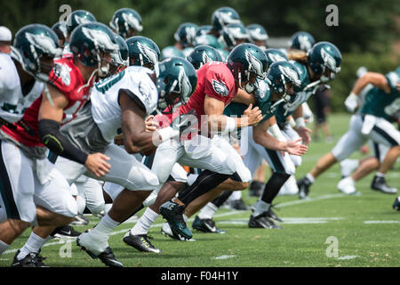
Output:
[[[118,102],[119,90],[131,91],[132,99],[139,100],[143,104],[147,115],[156,110],[158,93],[155,83],[149,76],[152,72],[147,68],[130,66],[94,85],[90,96],[92,115],[107,142],[114,140],[117,130],[121,127],[122,110]]]

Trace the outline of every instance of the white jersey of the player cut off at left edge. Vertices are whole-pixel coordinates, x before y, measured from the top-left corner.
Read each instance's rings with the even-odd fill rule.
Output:
[[[36,80],[25,96],[20,76],[10,54],[0,53],[0,117],[9,123],[20,120],[23,112],[42,94],[44,83]]]

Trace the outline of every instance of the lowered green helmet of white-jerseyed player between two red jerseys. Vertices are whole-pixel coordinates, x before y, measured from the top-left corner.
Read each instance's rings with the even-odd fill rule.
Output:
[[[196,90],[197,75],[193,65],[182,58],[172,57],[159,63],[156,79],[159,111],[186,104]]]

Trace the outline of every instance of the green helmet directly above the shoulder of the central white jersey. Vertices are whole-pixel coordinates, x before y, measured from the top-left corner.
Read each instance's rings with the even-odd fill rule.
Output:
[[[126,40],[129,50],[129,65],[146,66],[155,69],[160,61],[160,49],[156,43],[148,38],[135,36]]]

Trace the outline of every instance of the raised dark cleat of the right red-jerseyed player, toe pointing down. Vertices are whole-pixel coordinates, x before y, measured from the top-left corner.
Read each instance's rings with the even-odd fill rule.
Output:
[[[185,208],[179,204],[167,201],[159,208],[160,214],[170,224],[171,230],[174,235],[178,235],[180,238],[190,240],[193,237],[192,232],[188,228],[188,225],[183,219],[183,212]]]

